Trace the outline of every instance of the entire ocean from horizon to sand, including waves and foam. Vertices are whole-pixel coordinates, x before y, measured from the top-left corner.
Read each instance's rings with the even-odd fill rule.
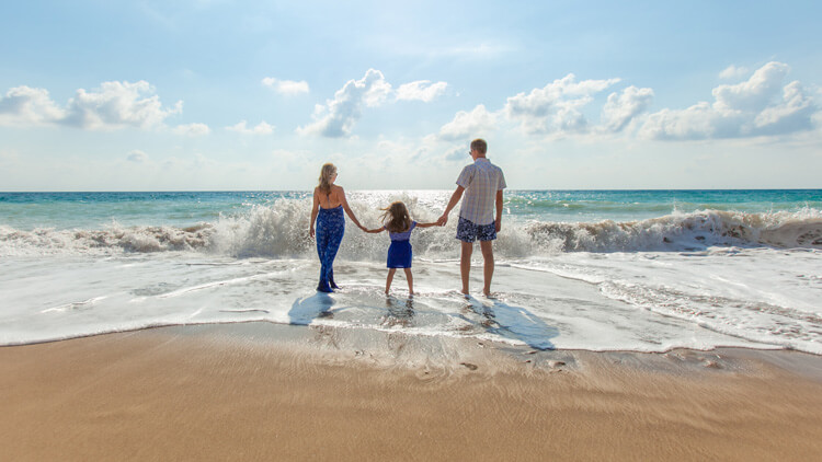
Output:
[[[350,192],[366,227],[450,190]],[[347,223],[315,291],[309,192],[0,193],[0,345],[270,322],[537,349],[739,346],[822,355],[822,190],[506,190],[493,297],[458,292],[457,210],[412,234],[386,297],[386,234]]]

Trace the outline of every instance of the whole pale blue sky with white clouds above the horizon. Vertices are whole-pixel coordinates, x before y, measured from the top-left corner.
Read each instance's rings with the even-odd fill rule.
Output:
[[[0,5],[0,190],[822,187],[813,1]]]

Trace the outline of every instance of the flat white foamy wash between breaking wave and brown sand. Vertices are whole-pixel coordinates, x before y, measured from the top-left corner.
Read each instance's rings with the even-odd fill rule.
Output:
[[[795,255],[786,258],[802,273]],[[683,261],[689,263],[683,266]],[[398,275],[395,293],[387,298],[381,262],[339,259],[335,275],[342,290],[326,294],[313,290],[318,264],[308,258],[237,259],[183,252],[7,257],[0,262],[0,344],[160,325],[263,321],[469,337],[539,349],[741,346],[822,354],[820,323],[812,317],[818,313],[808,294],[818,290],[819,279],[798,279],[813,286],[810,292],[779,300],[778,293],[756,285],[770,273],[745,273],[742,261],[740,267],[728,269],[728,262],[719,255],[683,259],[636,253],[500,262],[496,293],[489,299],[478,293],[466,298],[455,290],[459,268],[454,259],[418,258],[418,294],[408,298],[404,278]],[[481,262],[475,263],[472,288],[479,290]],[[727,273],[738,276],[728,281]],[[794,280],[791,275],[785,278]],[[699,286],[704,280],[716,284]],[[740,285],[758,289],[755,293],[763,303],[751,308],[741,302],[751,297]],[[796,303],[802,297],[807,307]],[[777,309],[785,304],[799,307],[794,310],[811,319],[802,324],[795,312]],[[780,325],[788,327],[783,332]],[[791,334],[791,326],[799,334]]]

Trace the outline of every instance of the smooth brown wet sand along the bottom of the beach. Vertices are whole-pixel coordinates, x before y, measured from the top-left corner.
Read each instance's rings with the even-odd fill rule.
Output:
[[[2,460],[813,460],[822,357],[273,324],[0,348]]]

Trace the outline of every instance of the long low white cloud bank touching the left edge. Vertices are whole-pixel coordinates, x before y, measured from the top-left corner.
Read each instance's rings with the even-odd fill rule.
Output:
[[[162,126],[172,114],[182,112],[182,102],[163,108],[155,89],[146,81],[103,82],[99,89],[79,89],[65,108],[44,89],[18,86],[0,99],[2,125],[68,125],[90,130]]]

